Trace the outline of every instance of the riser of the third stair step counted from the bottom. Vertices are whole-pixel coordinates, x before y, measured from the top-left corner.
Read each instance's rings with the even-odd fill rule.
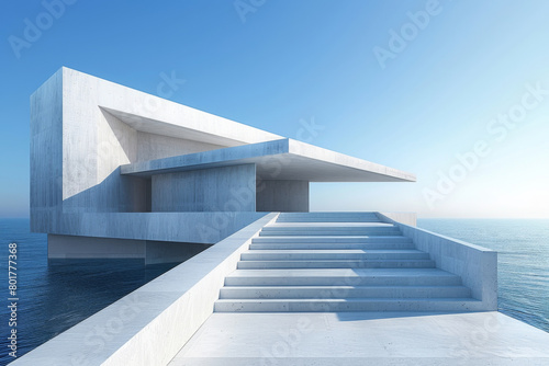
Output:
[[[434,268],[432,260],[240,261],[238,270],[262,268]]]

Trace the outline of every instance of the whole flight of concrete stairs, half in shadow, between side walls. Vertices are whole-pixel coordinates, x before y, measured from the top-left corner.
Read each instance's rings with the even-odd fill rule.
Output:
[[[475,311],[481,301],[373,213],[280,214],[225,278],[216,312]]]

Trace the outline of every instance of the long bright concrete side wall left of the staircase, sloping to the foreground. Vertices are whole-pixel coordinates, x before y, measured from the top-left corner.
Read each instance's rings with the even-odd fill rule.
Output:
[[[11,365],[167,365],[212,314],[225,276],[269,214]]]

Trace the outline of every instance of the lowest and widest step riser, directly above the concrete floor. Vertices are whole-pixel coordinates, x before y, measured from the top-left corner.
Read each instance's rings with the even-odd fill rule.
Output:
[[[479,311],[472,298],[220,299],[216,312]]]

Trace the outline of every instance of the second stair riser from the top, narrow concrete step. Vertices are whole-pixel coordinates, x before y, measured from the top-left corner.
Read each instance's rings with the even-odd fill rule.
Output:
[[[281,236],[400,236],[401,231],[396,227],[369,227],[369,228],[264,228],[260,237],[281,237]]]

